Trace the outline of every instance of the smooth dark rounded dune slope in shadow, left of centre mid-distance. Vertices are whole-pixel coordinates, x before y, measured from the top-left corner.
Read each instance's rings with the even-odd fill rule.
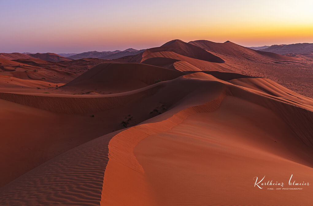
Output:
[[[162,67],[138,63],[103,63],[73,81],[65,84],[67,88],[102,89],[109,92],[125,92],[158,81],[166,81],[182,76],[184,73]]]

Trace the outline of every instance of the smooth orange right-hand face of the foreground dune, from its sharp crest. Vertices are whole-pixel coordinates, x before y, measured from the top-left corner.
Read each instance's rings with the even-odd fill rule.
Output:
[[[210,78],[207,77],[213,80]],[[101,205],[123,205],[126,201],[128,205],[244,205],[247,202],[258,205],[258,200],[272,205],[310,205],[310,201],[301,198],[299,192],[269,193],[251,186],[252,178],[257,175],[255,171],[260,174],[270,170],[275,178],[280,178],[282,173],[288,178],[290,174],[286,169],[290,167],[301,178],[311,180],[308,174],[313,171],[313,165],[308,151],[312,151],[313,145],[298,142],[296,136],[306,138],[305,134],[298,133],[302,129],[290,129],[290,122],[284,121],[284,114],[275,111],[281,107],[287,111],[290,107],[296,107],[238,87],[230,86],[229,89],[226,96],[222,95],[212,102],[184,109],[166,120],[147,122],[115,135],[109,143],[110,157],[104,176]],[[251,101],[249,95],[259,98]],[[262,106],[264,103],[269,108]],[[258,118],[254,119],[256,116]],[[297,122],[303,117],[311,119],[313,114],[293,117],[292,121]],[[264,119],[271,121],[266,125],[260,124]],[[301,122],[309,122],[309,119]],[[265,133],[267,136],[264,139],[260,134]],[[285,159],[287,154],[290,157]],[[249,161],[250,168],[246,166],[246,161]],[[260,166],[255,161],[268,167]],[[272,171],[273,167],[277,172]],[[233,173],[229,174],[228,171]],[[241,175],[243,173],[244,176]],[[115,185],[119,180],[121,182]],[[140,188],[139,191],[133,189],[134,184],[137,189]],[[311,188],[305,189],[305,194],[313,191]],[[141,203],[142,194],[150,198],[145,200],[147,204]],[[265,194],[267,199],[263,198]],[[279,203],[273,204],[274,199]]]

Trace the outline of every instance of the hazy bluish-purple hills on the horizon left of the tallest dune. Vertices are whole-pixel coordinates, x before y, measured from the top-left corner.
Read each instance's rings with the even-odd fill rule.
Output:
[[[68,56],[71,59],[82,59],[82,58],[98,58],[98,59],[117,59],[124,56],[136,55],[145,50],[136,50],[133,48],[126,49],[124,51],[87,51],[80,54]]]

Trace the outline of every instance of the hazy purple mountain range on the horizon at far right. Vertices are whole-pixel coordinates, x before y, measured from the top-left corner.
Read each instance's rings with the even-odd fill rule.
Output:
[[[298,44],[282,44],[282,45],[271,45],[266,49],[260,49],[261,51],[274,52],[276,54],[299,54],[313,52],[313,44],[310,43],[298,43]]]

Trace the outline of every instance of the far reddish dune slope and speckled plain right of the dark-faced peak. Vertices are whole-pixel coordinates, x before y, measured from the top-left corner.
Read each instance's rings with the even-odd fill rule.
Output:
[[[266,77],[284,87],[302,95],[313,97],[311,88],[312,61],[301,56],[286,56],[275,53],[264,53],[234,44],[232,42],[215,43],[207,40],[191,41],[214,55],[220,56],[225,63],[231,65],[234,73],[254,77]],[[270,66],[269,66],[270,65]],[[203,70],[203,69],[202,69]],[[217,70],[219,71],[219,70]]]

